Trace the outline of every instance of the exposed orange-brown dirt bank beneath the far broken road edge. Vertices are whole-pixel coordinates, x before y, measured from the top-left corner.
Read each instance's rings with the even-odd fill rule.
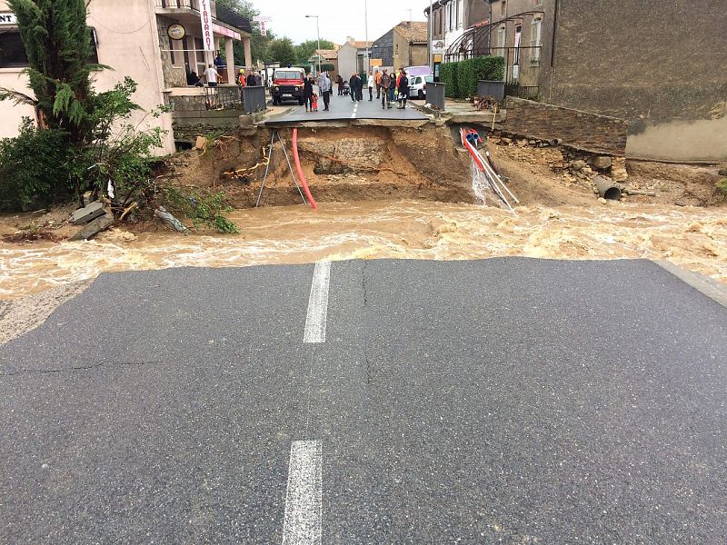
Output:
[[[254,136],[223,137],[204,153],[192,150],[175,156],[163,175],[183,184],[221,189],[236,208],[252,206],[263,182],[263,149],[271,135],[260,130]],[[295,169],[292,131],[281,130],[280,136]],[[443,128],[302,128],[298,148],[305,177],[318,201],[473,202],[469,159]],[[255,164],[258,166],[249,170]],[[300,203],[277,140],[269,171],[262,203]]]

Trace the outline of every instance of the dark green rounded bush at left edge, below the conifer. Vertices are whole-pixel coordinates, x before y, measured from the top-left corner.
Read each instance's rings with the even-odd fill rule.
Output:
[[[0,140],[0,207],[27,210],[69,192],[67,134],[23,118],[20,134]]]

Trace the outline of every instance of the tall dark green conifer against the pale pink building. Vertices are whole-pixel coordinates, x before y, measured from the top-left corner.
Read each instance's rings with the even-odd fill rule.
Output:
[[[84,0],[9,0],[17,17],[37,107],[50,128],[85,140],[91,107],[91,35]],[[6,94],[2,96],[5,98]]]

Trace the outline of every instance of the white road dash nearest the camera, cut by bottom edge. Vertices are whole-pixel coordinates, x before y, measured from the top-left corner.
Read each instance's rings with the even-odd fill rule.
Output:
[[[321,543],[321,441],[293,441],[285,493],[283,545]]]

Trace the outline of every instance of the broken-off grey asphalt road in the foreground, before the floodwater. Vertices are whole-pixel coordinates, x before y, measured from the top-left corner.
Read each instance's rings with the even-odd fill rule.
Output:
[[[725,339],[646,261],[104,274],[0,348],[0,543],[723,543]]]

